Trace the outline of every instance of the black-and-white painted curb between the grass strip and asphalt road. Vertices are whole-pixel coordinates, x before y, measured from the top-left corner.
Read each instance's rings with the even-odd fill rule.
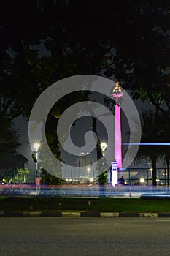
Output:
[[[108,211],[0,211],[0,217],[139,217],[170,218],[170,212],[108,212]]]

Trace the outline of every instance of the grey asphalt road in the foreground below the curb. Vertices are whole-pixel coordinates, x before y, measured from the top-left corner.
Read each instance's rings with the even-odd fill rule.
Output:
[[[1,217],[1,256],[170,255],[170,219]]]

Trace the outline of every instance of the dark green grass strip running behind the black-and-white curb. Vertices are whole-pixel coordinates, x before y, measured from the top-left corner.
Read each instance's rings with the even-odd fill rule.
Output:
[[[63,210],[170,212],[170,201],[133,198],[0,198],[0,211]]]

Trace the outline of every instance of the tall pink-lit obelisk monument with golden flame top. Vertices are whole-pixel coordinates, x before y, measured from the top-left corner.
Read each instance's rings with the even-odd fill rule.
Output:
[[[116,82],[115,89],[112,91],[112,96],[115,98],[115,161],[117,162],[117,169],[122,167],[122,135],[121,135],[121,113],[120,101],[123,96],[120,89],[119,82]]]

